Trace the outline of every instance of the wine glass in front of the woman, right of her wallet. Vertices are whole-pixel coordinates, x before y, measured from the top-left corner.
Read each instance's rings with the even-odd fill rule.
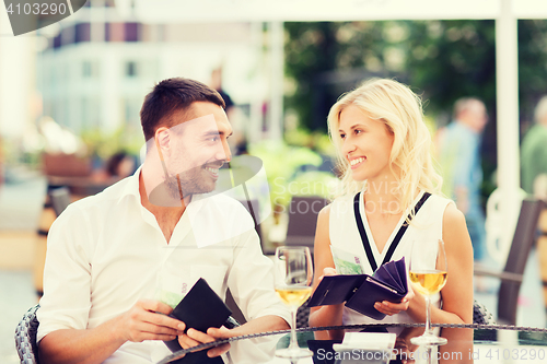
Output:
[[[426,297],[426,330],[410,339],[416,345],[444,345],[447,340],[437,337],[431,328],[431,296],[446,284],[446,253],[442,239],[416,240],[410,254],[409,277],[416,291]]]

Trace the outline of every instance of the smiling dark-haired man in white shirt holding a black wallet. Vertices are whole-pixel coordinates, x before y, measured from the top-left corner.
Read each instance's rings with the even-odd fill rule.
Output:
[[[38,310],[43,363],[150,363],[170,353],[160,340],[178,338],[190,348],[288,327],[271,261],[245,208],[221,193],[203,195],[231,158],[223,107],[199,82],[160,82],[141,109],[143,166],[74,202],[54,223]],[[185,322],[165,316],[172,306],[164,302],[175,295],[168,302],[175,305],[199,278],[222,298],[230,287],[249,321],[185,332]]]

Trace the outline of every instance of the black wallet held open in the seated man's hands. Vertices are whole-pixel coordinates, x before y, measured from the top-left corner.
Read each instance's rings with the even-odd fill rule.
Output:
[[[207,281],[200,278],[168,316],[186,324],[186,330],[191,328],[207,332],[210,327],[220,328],[224,325],[230,315],[230,308]],[[178,338],[164,342],[172,352],[183,349]]]

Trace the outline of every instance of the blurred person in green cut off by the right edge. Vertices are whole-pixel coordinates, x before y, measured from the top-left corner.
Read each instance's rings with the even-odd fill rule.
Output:
[[[547,96],[534,113],[535,125],[526,132],[521,148],[522,188],[526,193],[547,197]]]

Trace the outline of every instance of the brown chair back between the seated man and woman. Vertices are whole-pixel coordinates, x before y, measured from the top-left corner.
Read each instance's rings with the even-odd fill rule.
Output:
[[[307,246],[313,251],[317,215],[328,201],[318,196],[294,196],[289,204],[286,245]]]

